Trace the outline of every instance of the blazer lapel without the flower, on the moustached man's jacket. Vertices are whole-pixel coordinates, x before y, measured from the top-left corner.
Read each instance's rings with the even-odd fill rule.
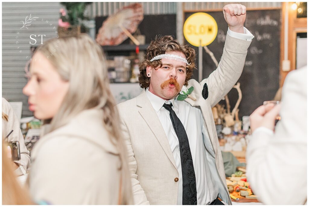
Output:
[[[155,112],[154,108],[152,107],[145,91],[143,90],[142,93],[137,97],[137,106],[141,107],[138,111],[146,121],[147,125],[149,126],[150,130],[155,134],[155,137],[158,139],[161,147],[163,148],[165,154],[167,155],[168,159],[170,159],[171,163],[176,167],[175,159],[173,153],[171,151],[170,144],[168,143],[167,136],[164,132],[162,124],[158,118],[157,113]]]

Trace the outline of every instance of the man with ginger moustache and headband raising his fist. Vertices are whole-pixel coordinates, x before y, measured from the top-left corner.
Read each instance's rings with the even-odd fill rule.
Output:
[[[159,37],[140,65],[145,91],[117,105],[135,204],[231,205],[211,107],[239,79],[253,35],[243,27],[245,6],[226,5],[223,15],[229,25],[224,51],[208,78],[190,80],[193,48]]]

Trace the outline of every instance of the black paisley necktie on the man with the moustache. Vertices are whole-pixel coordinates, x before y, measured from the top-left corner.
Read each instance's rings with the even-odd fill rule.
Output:
[[[181,171],[182,171],[182,205],[197,205],[196,179],[189,140],[180,119],[172,110],[171,104],[163,104],[170,112],[171,121],[179,140]]]

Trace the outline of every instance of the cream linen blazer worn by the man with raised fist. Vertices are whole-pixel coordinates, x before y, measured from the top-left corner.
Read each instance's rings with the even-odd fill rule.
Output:
[[[213,157],[205,149],[207,159],[219,189],[219,197],[227,204],[231,204],[231,199],[225,184],[223,160],[211,107],[215,106],[239,79],[250,43],[251,41],[227,35],[218,68],[201,83],[193,79],[188,81],[187,87],[194,87],[191,95],[196,97],[197,101],[185,99],[193,107],[201,107],[205,127],[215,152]],[[205,83],[209,90],[206,100],[201,95]],[[179,176],[179,172],[163,127],[145,91],[117,106],[128,148],[134,203],[176,205],[178,182],[174,179]]]

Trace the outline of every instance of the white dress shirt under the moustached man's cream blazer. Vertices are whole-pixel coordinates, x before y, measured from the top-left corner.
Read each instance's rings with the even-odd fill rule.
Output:
[[[241,34],[228,29],[227,34],[231,37],[251,41],[254,36],[245,27],[244,32],[245,34]],[[151,93],[148,88],[146,89],[146,95],[155,109],[165,131],[179,173],[177,205],[182,205],[182,170],[180,148],[178,137],[171,122],[169,115],[170,113],[163,107],[164,103],[173,105],[172,109],[175,111],[177,117],[180,119],[181,123],[184,125],[184,129],[187,132],[196,178],[197,205],[209,205],[217,198],[219,191],[213,177],[211,176],[210,168],[207,162],[204,147],[206,147],[210,154],[213,156],[215,155],[208,132],[205,128],[205,121],[203,119],[201,109],[199,107],[192,107],[186,101],[178,101],[176,99],[166,101]],[[206,146],[204,143],[206,143]]]

